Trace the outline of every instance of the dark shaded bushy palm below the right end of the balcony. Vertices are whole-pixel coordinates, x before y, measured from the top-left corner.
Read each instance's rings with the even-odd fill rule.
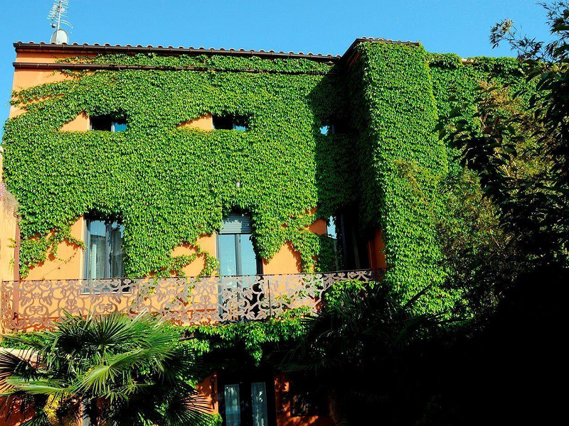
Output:
[[[336,421],[408,420],[410,411],[405,413],[402,402],[417,392],[408,383],[415,383],[423,368],[415,361],[450,321],[442,312],[417,313],[417,302],[428,290],[402,304],[381,283],[338,283],[325,293],[326,307],[302,321],[299,341],[273,357],[282,356],[280,367],[293,382],[303,381],[309,389],[312,382],[314,394],[328,395]]]

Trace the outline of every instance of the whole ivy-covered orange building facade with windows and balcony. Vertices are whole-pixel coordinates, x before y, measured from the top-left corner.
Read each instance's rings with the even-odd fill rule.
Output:
[[[14,47],[2,332],[147,310],[203,353],[250,356],[199,385],[225,425],[333,425],[260,366],[263,345],[294,339],[341,280],[381,279],[403,300],[428,287],[425,309],[459,299],[436,231],[459,165],[435,126],[451,93],[472,99],[490,71],[515,80],[514,60],[376,38],[341,56]]]

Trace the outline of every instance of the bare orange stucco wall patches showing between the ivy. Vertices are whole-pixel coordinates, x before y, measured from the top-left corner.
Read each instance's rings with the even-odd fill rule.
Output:
[[[82,54],[83,55],[83,54]],[[74,56],[74,55],[73,55]],[[64,58],[65,55],[52,54],[52,53],[18,53],[16,62],[38,62],[38,63],[53,63],[55,60]],[[14,90],[26,89],[38,84],[45,84],[48,82],[59,82],[68,78],[66,75],[58,71],[51,70],[16,70],[14,72]],[[13,118],[24,111],[17,107],[11,107],[10,117]],[[188,121],[181,124],[179,127],[189,127],[192,129],[200,129],[202,131],[209,131],[213,128],[213,119],[211,114],[206,114],[193,121]],[[89,118],[86,114],[80,114],[78,117],[62,126],[61,131],[88,131]],[[0,168],[1,170],[1,168]],[[1,207],[1,206],[0,206]],[[311,212],[314,213],[314,212]],[[317,234],[326,233],[326,222],[323,219],[318,219],[314,224],[309,226],[309,230]],[[14,238],[16,235],[16,217],[14,212],[0,208],[0,279],[11,280],[14,278],[14,271],[9,262],[14,258],[14,249],[9,248],[6,241]],[[71,227],[71,234],[76,239],[83,240],[85,235],[85,221],[80,217]],[[381,237],[381,234],[380,234]],[[379,241],[379,240],[378,240]],[[212,255],[216,254],[216,238],[215,236],[203,235],[200,236],[196,242],[201,249],[208,251]],[[379,244],[379,243],[378,243]],[[377,244],[373,250],[377,249]],[[196,252],[196,246],[184,244],[176,247],[172,251],[172,256],[180,256],[184,254],[192,254]],[[184,268],[184,272],[188,276],[198,275],[203,269],[205,259],[203,256],[198,256],[196,261]],[[84,268],[84,253],[83,249],[68,242],[62,242],[58,246],[58,255],[49,256],[49,258],[31,268],[27,276],[27,280],[59,280],[59,279],[77,279],[83,278]],[[299,273],[302,271],[300,256],[294,250],[292,244],[287,243],[282,246],[270,261],[263,261],[263,273],[265,274],[282,274],[282,273]],[[198,390],[206,396],[208,403],[211,406],[211,413],[218,413],[217,398],[211,396],[211,378],[214,379],[215,393],[217,394],[217,380],[216,374],[205,378],[198,384]],[[277,376],[275,378],[275,398],[277,398],[277,407],[280,401],[280,393],[288,390],[289,383],[284,376]],[[5,423],[0,420],[0,425],[16,425],[14,423]],[[290,414],[290,407],[286,406],[283,413],[277,414],[278,426],[296,426],[296,425],[314,425],[314,426],[330,426],[331,420],[327,417],[292,417]]]

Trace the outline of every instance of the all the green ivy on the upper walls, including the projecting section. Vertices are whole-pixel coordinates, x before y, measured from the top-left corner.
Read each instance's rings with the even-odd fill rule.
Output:
[[[496,84],[522,88],[519,64],[473,58],[464,65],[457,55],[415,45],[361,43],[357,50],[347,70],[221,55],[60,61],[124,67],[68,72],[70,80],[15,94],[27,112],[6,123],[4,148],[6,182],[20,202],[21,275],[59,241],[83,244],[70,224],[87,212],[122,219],[127,275],[181,273],[196,255],[174,258],[172,250],[213,234],[231,209],[250,212],[263,258],[290,241],[305,271],[330,271],[339,265],[334,243],[307,228],[359,204],[362,235],[383,230],[386,283],[403,299],[428,287],[430,309],[450,307],[460,293],[445,284],[436,229],[445,220],[458,233],[473,228],[461,216],[462,167],[435,124],[476,97],[491,74],[502,76]],[[128,129],[60,131],[83,113],[126,119]],[[243,116],[249,128],[179,128],[210,113]],[[352,130],[322,135],[329,120]],[[480,192],[475,179],[468,185]],[[215,253],[196,248],[206,258],[202,273],[211,273]]]

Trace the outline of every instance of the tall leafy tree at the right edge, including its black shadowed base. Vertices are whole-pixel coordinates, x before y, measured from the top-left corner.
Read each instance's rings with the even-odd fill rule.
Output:
[[[439,125],[479,180],[499,241],[491,256],[462,259],[482,263],[469,284],[484,315],[448,349],[435,348],[445,373],[432,375],[420,424],[546,424],[562,414],[552,379],[563,371],[559,335],[569,282],[569,3],[542,6],[551,42],[520,36],[507,19],[491,33],[494,45],[516,50],[531,91],[483,82],[474,102]],[[461,110],[475,111],[472,120],[458,119]]]

